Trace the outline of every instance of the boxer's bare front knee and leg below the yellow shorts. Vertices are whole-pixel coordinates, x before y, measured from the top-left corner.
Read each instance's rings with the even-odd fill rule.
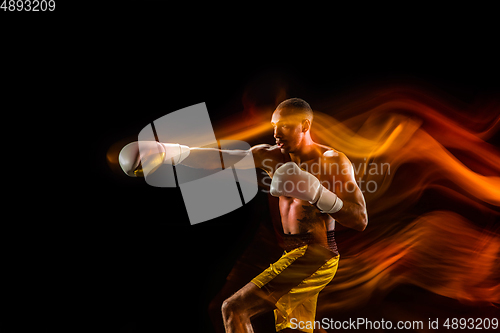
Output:
[[[252,282],[247,283],[222,303],[222,318],[227,333],[253,332],[250,319],[272,311],[276,301]]]

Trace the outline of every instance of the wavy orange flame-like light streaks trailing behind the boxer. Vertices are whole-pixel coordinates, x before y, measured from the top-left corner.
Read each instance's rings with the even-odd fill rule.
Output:
[[[250,122],[235,115],[217,133],[255,139],[269,131],[271,112]],[[371,186],[360,185],[369,226],[339,237],[341,263],[318,313],[354,308],[399,284],[500,303],[500,151],[485,141],[499,129],[499,114],[498,100],[475,108],[401,87],[314,111],[315,141],[344,152],[360,183]],[[429,191],[427,208],[415,212]]]

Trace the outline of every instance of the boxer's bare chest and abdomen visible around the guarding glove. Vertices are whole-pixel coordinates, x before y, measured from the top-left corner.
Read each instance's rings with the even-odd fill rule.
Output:
[[[299,167],[316,176],[321,182],[331,182],[331,173],[325,166],[324,153],[331,148],[317,145],[317,153],[300,163]],[[272,178],[274,171],[282,164],[290,162],[289,154],[282,153],[277,146],[269,147],[262,155],[262,169]],[[292,197],[279,197],[281,223],[285,234],[313,233],[326,237],[326,232],[335,229],[335,220],[328,214],[322,214],[307,201]]]

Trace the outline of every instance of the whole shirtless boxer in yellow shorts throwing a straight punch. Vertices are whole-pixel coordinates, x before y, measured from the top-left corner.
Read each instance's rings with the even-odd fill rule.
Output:
[[[351,162],[343,153],[312,141],[312,121],[309,104],[291,98],[272,115],[275,145],[220,151],[225,166],[251,152],[254,167],[272,178],[270,193],[279,197],[285,245],[278,261],[224,301],[226,332],[253,332],[251,318],[274,310],[276,331],[312,333],[318,294],[338,267],[335,221],[359,231],[366,228],[365,200]],[[160,145],[163,163],[208,169],[212,162],[214,167],[220,165],[214,160],[214,148]],[[137,146],[126,146],[120,153],[120,165],[127,174],[137,175],[143,167],[138,156]]]

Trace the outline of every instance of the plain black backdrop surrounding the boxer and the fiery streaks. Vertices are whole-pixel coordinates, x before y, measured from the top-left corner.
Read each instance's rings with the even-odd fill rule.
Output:
[[[267,196],[191,226],[179,189],[113,172],[110,146],[158,117],[205,102],[216,123],[242,109],[249,84],[269,80],[313,106],[373,83],[416,83],[466,103],[500,97],[492,27],[471,13],[57,5],[3,21],[4,92],[16,100],[4,106],[18,124],[36,119],[24,136],[43,142],[44,161],[29,170],[42,169],[43,184],[15,186],[18,217],[3,233],[8,332],[210,332],[208,303]]]

